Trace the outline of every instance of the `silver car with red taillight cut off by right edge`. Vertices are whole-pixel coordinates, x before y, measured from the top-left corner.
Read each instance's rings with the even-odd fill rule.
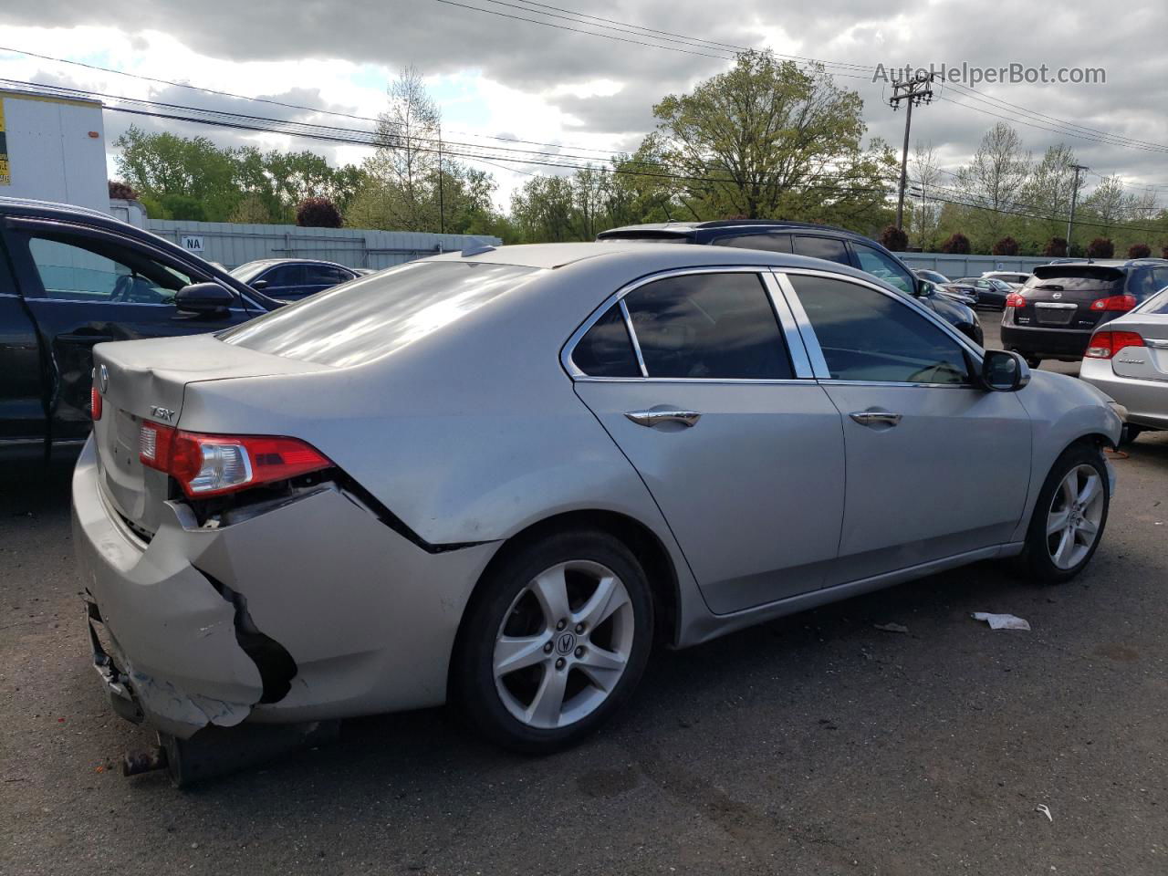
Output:
[[[1122,440],[1168,429],[1168,288],[1097,329],[1079,376],[1127,408]]]

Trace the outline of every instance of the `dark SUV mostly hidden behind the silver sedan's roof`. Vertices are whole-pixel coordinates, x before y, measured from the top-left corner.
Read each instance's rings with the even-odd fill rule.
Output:
[[[876,241],[855,231],[806,222],[724,220],[721,222],[663,222],[625,225],[602,231],[598,241],[656,241],[704,243],[746,250],[793,252],[823,258],[870,273],[920,304],[981,346],[981,322],[969,307],[946,298],[931,283],[920,280]]]

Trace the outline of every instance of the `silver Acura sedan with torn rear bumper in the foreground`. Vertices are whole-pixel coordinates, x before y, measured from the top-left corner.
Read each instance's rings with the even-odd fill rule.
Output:
[[[97,668],[180,738],[453,701],[556,749],[654,642],[979,559],[1075,576],[1121,426],[869,274],[722,246],[447,253],[95,361]]]

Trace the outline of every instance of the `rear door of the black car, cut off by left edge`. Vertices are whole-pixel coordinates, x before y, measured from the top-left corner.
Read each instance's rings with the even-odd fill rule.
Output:
[[[36,325],[0,242],[0,453],[44,439],[44,381]]]

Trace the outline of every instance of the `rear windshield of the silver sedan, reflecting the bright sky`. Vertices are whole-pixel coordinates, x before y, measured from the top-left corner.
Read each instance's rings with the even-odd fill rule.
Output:
[[[362,364],[449,326],[537,272],[475,262],[410,262],[280,307],[218,339],[336,368]]]

